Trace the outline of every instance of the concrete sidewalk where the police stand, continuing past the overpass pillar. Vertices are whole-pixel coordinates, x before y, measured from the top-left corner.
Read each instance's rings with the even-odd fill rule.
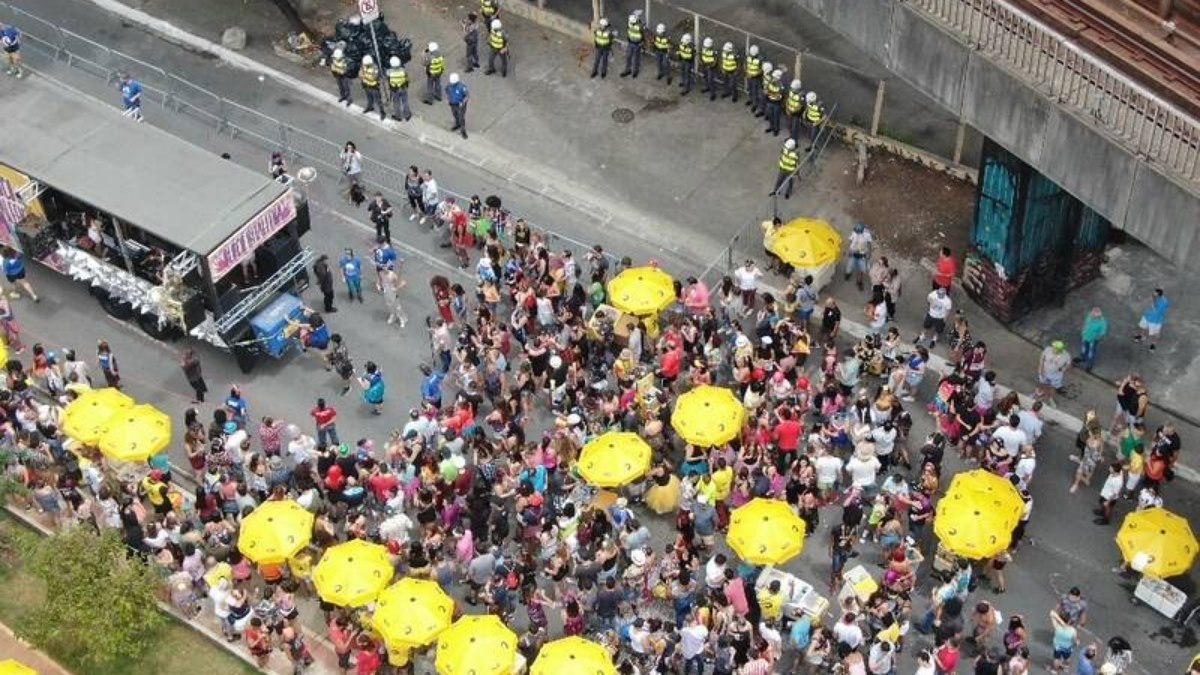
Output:
[[[92,2],[110,11],[126,10],[118,0]],[[210,2],[203,10],[168,0],[142,0],[137,5],[167,22],[154,30],[174,31],[178,34],[174,40],[190,41],[192,48],[210,50],[245,70],[278,71],[280,78],[286,78],[286,84],[302,95],[330,102],[334,98],[328,73],[298,66],[274,53],[270,40],[283,28],[269,6],[252,7],[235,0]],[[466,6],[451,7],[444,0],[383,0],[382,6],[385,16],[392,17],[392,26],[412,36],[418,53],[433,40],[446,54],[448,71],[462,65],[457,22],[466,14]],[[332,0],[323,0],[320,7],[319,22],[325,23],[347,12],[344,4]],[[222,50],[211,42],[204,44],[204,40],[218,41],[221,31],[235,23],[250,34],[244,54]],[[566,209],[605,214],[599,220],[616,232],[670,252],[671,258],[688,261],[691,267],[686,271],[691,273],[714,259],[728,238],[748,221],[768,216],[766,189],[774,178],[774,160],[781,139],[763,135],[761,121],[746,115],[742,106],[720,100],[710,104],[707,97],[695,96],[696,92],[680,98],[676,90],[654,82],[653,65],[643,68],[643,77],[636,82],[616,74],[607,80],[589,79],[590,47],[577,37],[535,25],[512,12],[504,16],[504,23],[514,50],[509,78],[482,77],[478,71],[464,76],[473,96],[469,142],[460,142],[443,129],[449,126],[449,113],[443,107],[416,103],[412,123],[386,123],[384,126],[413,142],[485,168],[521,189],[544,196],[558,193],[557,201]],[[194,36],[184,31],[192,31]],[[419,66],[410,64],[410,77],[418,70]],[[416,84],[414,94],[419,94],[421,86]],[[617,108],[635,110],[635,121],[616,123],[607,112]],[[343,110],[341,114],[362,118],[338,109]],[[331,113],[337,114],[334,109]],[[899,325],[907,340],[919,330],[924,316],[928,259],[943,243],[955,251],[961,250],[972,217],[973,190],[940,177],[918,175],[920,180],[901,177],[904,179],[889,183],[883,174],[894,171],[888,167],[896,162],[880,159],[874,161],[865,185],[857,186],[850,153],[839,145],[830,145],[821,163],[818,173],[793,201],[780,203],[781,215],[785,220],[797,215],[824,217],[844,232],[848,232],[853,222],[866,220],[877,239],[883,241],[878,253],[888,255],[904,275]],[[947,201],[959,207],[948,209],[942,203]],[[564,221],[569,219],[568,215]],[[578,228],[569,229],[565,222],[548,225],[569,235],[589,238]],[[622,255],[622,251],[612,252]],[[744,257],[762,257],[752,226],[745,229],[733,253],[734,261]],[[1171,276],[1163,261],[1139,259],[1144,261],[1142,270],[1154,269],[1165,277]],[[774,283],[781,286],[782,280],[776,279]],[[1115,334],[1126,328],[1115,305],[1140,304],[1141,293],[1134,293],[1133,286],[1120,281],[1108,286],[1104,281],[1094,282],[1076,292],[1072,301],[1090,303],[1097,294],[1106,297],[1114,305],[1110,322]],[[827,292],[838,298],[847,323],[860,321],[863,293],[842,282],[840,275]],[[1021,334],[1014,334],[974,306],[965,294],[956,293],[955,301],[967,311],[974,336],[988,342],[990,366],[1000,372],[1004,384],[1024,393],[1033,392],[1036,386],[1037,363],[1044,346],[1042,336],[1052,334],[1069,341],[1078,333],[1078,328],[1072,327],[1082,316],[1073,309],[1043,310],[1025,323],[1019,322],[1016,329]],[[1176,313],[1175,319],[1180,318]],[[1051,323],[1052,330],[1036,328]],[[1183,324],[1183,321],[1176,323]],[[1150,369],[1147,376],[1151,377],[1152,396],[1169,408],[1177,406],[1186,412],[1186,406],[1178,401],[1188,400],[1190,388],[1174,387],[1184,381],[1180,374],[1188,372],[1195,350],[1188,346],[1184,330],[1175,330],[1172,335],[1181,340],[1180,348],[1160,350],[1157,358],[1162,359],[1162,368]],[[1110,344],[1118,340],[1123,338],[1114,335]],[[938,351],[948,353],[946,347]],[[1109,381],[1072,371],[1068,375],[1070,398],[1063,398],[1058,411],[1050,411],[1049,416],[1072,426],[1087,410],[1096,410],[1108,422],[1115,396],[1111,381],[1123,375],[1120,372],[1123,365],[1133,363],[1141,365],[1140,360],[1127,360],[1120,351],[1112,350],[1108,359],[1102,354],[1103,368],[1098,371]],[[1147,424],[1153,429],[1174,417],[1154,408]],[[1178,426],[1184,437],[1194,437],[1200,431],[1186,419],[1180,419]],[[1189,471],[1180,473],[1196,477]]]

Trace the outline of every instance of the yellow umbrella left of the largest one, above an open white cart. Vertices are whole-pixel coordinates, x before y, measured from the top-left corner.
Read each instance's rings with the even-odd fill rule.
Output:
[[[804,520],[781,500],[750,500],[730,515],[725,540],[751,565],[781,565],[804,548]]]

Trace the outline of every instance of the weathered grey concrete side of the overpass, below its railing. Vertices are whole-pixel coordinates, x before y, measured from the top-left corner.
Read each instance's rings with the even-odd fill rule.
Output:
[[[793,0],[1159,255],[1200,271],[1200,191],[1136,159],[902,0]]]

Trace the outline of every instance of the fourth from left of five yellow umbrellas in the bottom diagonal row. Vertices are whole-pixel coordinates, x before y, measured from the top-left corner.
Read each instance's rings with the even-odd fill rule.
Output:
[[[509,675],[517,635],[493,614],[472,614],[438,638],[438,675]]]

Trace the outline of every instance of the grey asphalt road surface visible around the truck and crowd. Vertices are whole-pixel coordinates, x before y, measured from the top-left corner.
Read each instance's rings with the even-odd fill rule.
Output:
[[[374,125],[344,114],[330,114],[322,106],[313,106],[270,83],[258,83],[245,72],[214,66],[209,59],[122,26],[119,20],[96,11],[86,2],[28,0],[28,5],[31,11],[73,25],[83,35],[138,54],[149,62],[169,65],[170,70],[214,91],[268,114],[286,118],[325,138],[338,143],[355,139],[368,154],[372,150],[385,153],[395,165],[431,167],[444,186],[480,195],[500,190],[499,185],[475,167],[457,166],[421,145],[388,135]],[[30,60],[35,61],[35,66],[48,66],[37,64],[32,58]],[[62,66],[50,66],[47,71],[60,76],[66,84],[102,96],[114,104],[118,100],[114,90],[103,88],[94,78],[80,77]],[[19,84],[7,79],[0,83],[4,89],[12,86]],[[265,168],[266,155],[251,139],[217,135],[192,120],[172,117],[166,110],[148,108],[146,115],[149,124],[162,125],[215,154],[229,153],[234,161],[256,169]],[[136,186],[131,186],[131,190],[136,190]],[[587,214],[564,213],[560,205],[533,193],[502,193],[506,205],[538,223],[554,223],[568,235],[588,243],[601,241],[610,250],[630,255],[635,259],[664,259],[664,251],[643,241],[602,231],[589,222]],[[367,249],[370,231],[364,211],[338,199],[336,186],[329,175],[320,175],[310,196],[314,229],[306,237],[307,245],[329,253],[336,253],[347,245]],[[350,305],[341,288],[341,311],[330,317],[332,328],[347,336],[356,362],[373,359],[379,363],[389,384],[386,414],[383,417],[370,416],[356,394],[336,401],[341,411],[338,426],[344,438],[383,438],[390,429],[402,423],[404,411],[418,401],[416,369],[420,363],[428,360],[428,342],[420,318],[432,313],[425,280],[432,274],[455,274],[449,264],[449,252],[433,246],[426,231],[407,220],[398,220],[394,232],[403,243],[402,253],[406,257],[403,274],[409,281],[406,297],[406,309],[412,319],[409,327],[401,330],[385,325],[383,303],[378,295],[368,294],[365,304]],[[667,256],[664,263],[668,268],[685,271],[696,269],[704,262],[688,258],[686,255]],[[187,406],[190,390],[178,368],[178,353],[182,344],[157,342],[134,327],[115,322],[83,287],[67,279],[42,269],[35,269],[31,279],[46,299],[36,306],[17,303],[17,316],[23,321],[29,342],[41,341],[55,348],[70,346],[83,354],[90,354],[97,339],[107,339],[124,365],[131,394],[172,412]],[[310,298],[310,301],[313,299]],[[307,411],[313,399],[318,395],[336,398],[336,378],[326,374],[314,358],[292,354],[280,362],[264,363],[253,374],[245,376],[229,357],[215,350],[204,347],[200,357],[214,396],[218,396],[232,382],[241,383],[250,401],[251,414],[256,418],[270,414],[294,420],[307,429],[311,426]],[[917,417],[913,436],[919,438],[928,432],[929,420],[923,414]],[[1067,459],[1070,449],[1068,435],[1054,429],[1048,431],[1040,444],[1040,465],[1033,486],[1036,507],[1028,530],[1033,543],[1024,546],[1015,562],[1009,566],[1009,591],[1006,595],[990,596],[988,591],[980,590],[974,597],[995,602],[1006,616],[1022,614],[1026,617],[1027,625],[1034,628],[1034,658],[1040,667],[1049,658],[1050,626],[1046,613],[1060,592],[1079,585],[1092,603],[1092,621],[1085,633],[1086,638],[1094,637],[1103,641],[1112,634],[1123,634],[1134,644],[1136,671],[1178,671],[1194,651],[1195,637],[1192,633],[1170,632],[1164,628],[1166,622],[1154,610],[1130,604],[1132,583],[1110,572],[1118,560],[1111,540],[1115,530],[1091,522],[1094,488],[1078,495],[1067,494],[1074,466]],[[178,447],[173,449],[173,459],[184,464]],[[950,468],[959,467],[952,461]],[[1193,519],[1200,514],[1200,500],[1194,486],[1172,484],[1168,491],[1168,501],[1174,509]],[[830,512],[822,514],[824,525],[810,539],[804,554],[787,566],[788,571],[814,581],[818,587],[828,578],[826,534],[828,522],[835,520],[835,516]],[[650,518],[649,521],[656,540],[666,540],[671,530],[670,521],[656,518]],[[876,557],[875,551],[871,548],[865,548],[864,551],[859,560],[869,565]],[[918,607],[924,607],[923,599],[918,602]],[[911,662],[906,659],[902,669],[910,665]]]

